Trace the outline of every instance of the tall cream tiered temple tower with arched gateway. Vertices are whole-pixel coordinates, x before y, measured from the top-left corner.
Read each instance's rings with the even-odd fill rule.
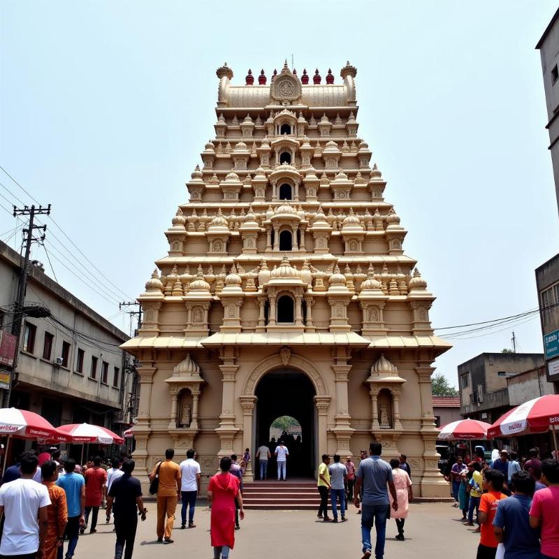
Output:
[[[356,68],[340,75],[323,85],[285,64],[269,85],[264,71],[233,85],[218,68],[215,139],[124,344],[140,361],[137,472],[194,447],[206,479],[287,414],[303,430],[296,474],[376,439],[385,458],[407,454],[417,493],[446,495],[430,377],[450,346],[358,137]]]

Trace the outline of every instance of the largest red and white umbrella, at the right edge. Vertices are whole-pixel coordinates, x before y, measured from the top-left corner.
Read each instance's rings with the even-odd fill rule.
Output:
[[[529,400],[501,416],[488,430],[488,437],[511,437],[523,433],[544,433],[559,425],[559,394]]]

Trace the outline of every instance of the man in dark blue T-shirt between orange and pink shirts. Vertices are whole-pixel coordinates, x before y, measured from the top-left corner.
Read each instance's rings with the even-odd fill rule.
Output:
[[[512,475],[512,497],[499,502],[493,519],[498,542],[504,543],[504,559],[539,559],[539,530],[530,528],[530,505],[535,480],[528,472]]]

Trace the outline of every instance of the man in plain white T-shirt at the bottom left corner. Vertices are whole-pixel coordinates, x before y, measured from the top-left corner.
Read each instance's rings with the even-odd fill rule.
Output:
[[[5,517],[0,556],[35,559],[45,555],[48,531],[48,488],[34,481],[37,456],[24,452],[20,460],[22,477],[0,488],[0,516]]]

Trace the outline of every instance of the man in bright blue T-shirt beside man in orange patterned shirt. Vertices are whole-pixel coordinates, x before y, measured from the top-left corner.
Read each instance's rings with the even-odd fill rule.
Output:
[[[71,458],[64,463],[66,474],[57,479],[57,486],[64,489],[68,503],[68,524],[64,537],[68,537],[66,559],[72,559],[75,546],[78,545],[80,525],[85,525],[85,479],[81,474],[76,474],[75,460]],[[58,548],[57,559],[62,559],[64,545]]]

